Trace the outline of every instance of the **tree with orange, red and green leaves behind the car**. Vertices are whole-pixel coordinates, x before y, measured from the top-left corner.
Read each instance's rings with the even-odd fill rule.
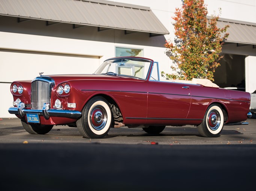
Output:
[[[204,0],[183,0],[181,9],[175,11],[174,43],[166,41],[166,55],[174,62],[175,74],[162,76],[171,79],[207,78],[214,81],[215,69],[219,60],[222,44],[228,38],[227,28],[216,26],[219,16],[207,19]],[[225,34],[224,34],[225,33]]]

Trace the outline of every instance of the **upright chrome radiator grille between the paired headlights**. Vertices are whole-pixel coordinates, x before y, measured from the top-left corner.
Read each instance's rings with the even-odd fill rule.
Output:
[[[47,81],[35,80],[31,84],[31,109],[42,109],[43,103],[51,105],[51,87]]]

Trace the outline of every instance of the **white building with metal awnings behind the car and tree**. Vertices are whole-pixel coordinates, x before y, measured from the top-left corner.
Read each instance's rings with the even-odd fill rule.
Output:
[[[23,6],[22,4],[24,3]],[[127,4],[128,3],[128,4]],[[171,73],[165,41],[181,0],[0,0],[0,118],[13,117],[10,83],[44,75],[93,73],[110,57],[142,56]],[[256,89],[256,0],[205,0],[209,16],[222,9],[230,40],[216,71],[220,87]]]

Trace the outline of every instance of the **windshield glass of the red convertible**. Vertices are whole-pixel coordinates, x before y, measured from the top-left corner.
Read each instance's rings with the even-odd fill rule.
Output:
[[[94,74],[130,76],[147,79],[151,61],[138,58],[106,60]]]

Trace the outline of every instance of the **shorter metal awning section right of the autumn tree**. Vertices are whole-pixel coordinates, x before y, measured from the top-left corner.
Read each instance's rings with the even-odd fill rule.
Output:
[[[256,45],[255,23],[220,18],[217,26],[223,28],[225,25],[229,25],[226,31],[229,37],[225,42]]]

